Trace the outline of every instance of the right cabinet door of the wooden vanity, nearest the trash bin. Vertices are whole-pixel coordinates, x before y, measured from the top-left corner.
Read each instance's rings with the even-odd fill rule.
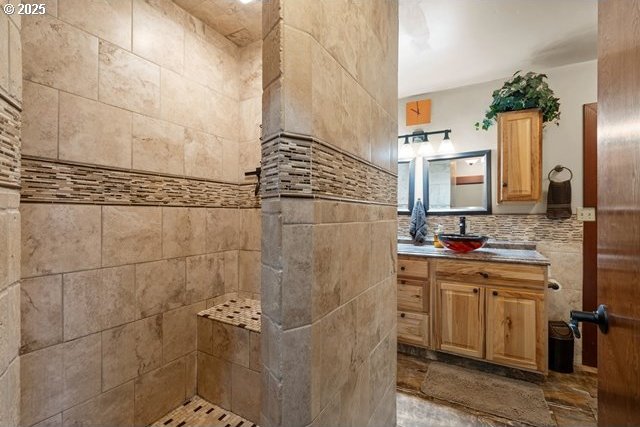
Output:
[[[544,371],[544,292],[487,289],[487,360]]]

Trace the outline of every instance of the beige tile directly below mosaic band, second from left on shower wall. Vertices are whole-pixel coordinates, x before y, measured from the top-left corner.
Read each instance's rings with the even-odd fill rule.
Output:
[[[160,207],[102,208],[102,265],[155,261],[161,258]]]

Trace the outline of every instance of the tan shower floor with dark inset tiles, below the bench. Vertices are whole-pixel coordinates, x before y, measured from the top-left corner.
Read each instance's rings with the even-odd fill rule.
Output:
[[[153,427],[257,427],[251,421],[198,396],[194,396],[151,425]]]

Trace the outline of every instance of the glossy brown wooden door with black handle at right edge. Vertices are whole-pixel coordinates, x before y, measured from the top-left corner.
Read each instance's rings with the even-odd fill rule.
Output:
[[[640,425],[640,0],[598,2],[598,424]]]

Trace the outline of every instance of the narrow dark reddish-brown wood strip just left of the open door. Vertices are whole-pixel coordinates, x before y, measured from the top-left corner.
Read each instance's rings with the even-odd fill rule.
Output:
[[[598,207],[598,105],[582,108],[582,147],[584,165],[583,206]],[[582,241],[582,309],[594,311],[598,307],[598,226],[596,221],[585,222]],[[598,366],[598,328],[582,325],[582,364]]]

